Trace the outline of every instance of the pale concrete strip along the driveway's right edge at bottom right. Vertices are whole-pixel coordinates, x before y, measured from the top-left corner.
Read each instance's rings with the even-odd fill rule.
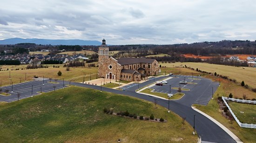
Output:
[[[193,110],[195,110],[196,112],[199,112],[200,114],[202,114],[203,116],[205,116],[206,118],[209,118],[211,121],[213,121],[215,124],[217,124],[219,127],[221,127],[226,133],[229,134],[230,137],[232,137],[236,143],[243,143],[232,131],[230,131],[227,127],[225,127],[223,124],[221,124],[220,122],[218,122],[216,119],[210,117],[208,114],[196,109],[195,107],[193,107],[193,105],[191,106],[191,108]]]

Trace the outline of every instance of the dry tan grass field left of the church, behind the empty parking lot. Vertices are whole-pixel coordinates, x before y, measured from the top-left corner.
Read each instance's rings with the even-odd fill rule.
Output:
[[[61,76],[57,75],[58,71],[62,72]],[[20,81],[24,82],[25,73],[27,73],[27,81],[33,80],[34,75],[36,75],[39,77],[44,76],[45,78],[60,79],[60,80],[63,80],[64,78],[65,81],[82,82],[84,74],[86,74],[85,81],[90,80],[91,73],[92,73],[91,79],[96,79],[97,71],[98,71],[98,68],[82,68],[82,67],[77,67],[77,68],[70,67],[70,70],[66,71],[66,68],[63,68],[63,66],[60,66],[60,68],[53,68],[53,66],[49,66],[49,68],[0,71],[0,77],[1,77],[0,82],[2,86],[10,84],[9,72],[11,72],[11,79],[13,81],[13,84],[20,83]]]

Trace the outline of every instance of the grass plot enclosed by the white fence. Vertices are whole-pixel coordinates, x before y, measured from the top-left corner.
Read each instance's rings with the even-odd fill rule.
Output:
[[[256,124],[255,104],[244,104],[232,101],[229,101],[228,104],[241,123]]]

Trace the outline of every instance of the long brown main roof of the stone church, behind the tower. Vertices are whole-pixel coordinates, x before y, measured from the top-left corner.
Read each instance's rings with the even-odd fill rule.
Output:
[[[123,57],[118,59],[118,63],[121,65],[134,64],[134,63],[152,63],[155,59],[146,59],[146,58],[132,58],[132,57]]]

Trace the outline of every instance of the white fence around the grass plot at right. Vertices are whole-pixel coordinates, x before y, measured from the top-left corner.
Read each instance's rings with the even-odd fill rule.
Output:
[[[254,129],[256,129],[256,124],[241,123],[241,122],[238,120],[238,118],[236,118],[236,115],[233,113],[233,111],[232,111],[231,108],[229,107],[228,103],[226,102],[226,100],[231,100],[231,101],[241,102],[241,103],[252,103],[252,104],[256,104],[255,101],[251,101],[251,100],[241,100],[241,99],[233,99],[233,98],[228,98],[228,97],[223,97],[223,96],[222,96],[222,100],[224,101],[225,105],[228,107],[230,113],[231,113],[232,116],[235,118],[237,124],[239,124],[240,127],[244,127],[244,128],[254,128]]]

